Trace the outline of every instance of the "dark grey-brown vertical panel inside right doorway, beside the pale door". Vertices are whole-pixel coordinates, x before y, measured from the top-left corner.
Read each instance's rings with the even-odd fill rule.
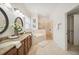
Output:
[[[74,14],[67,15],[67,50],[74,45]]]

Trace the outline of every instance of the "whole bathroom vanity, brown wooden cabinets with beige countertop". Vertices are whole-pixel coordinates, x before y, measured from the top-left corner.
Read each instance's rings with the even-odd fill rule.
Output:
[[[0,55],[27,55],[32,46],[32,34],[22,34],[17,39],[6,39],[0,42],[0,45],[4,46],[0,48]]]

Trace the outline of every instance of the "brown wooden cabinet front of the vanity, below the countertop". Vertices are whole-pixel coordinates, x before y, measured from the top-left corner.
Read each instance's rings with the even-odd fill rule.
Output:
[[[29,35],[21,41],[21,46],[17,49],[16,47],[11,48],[4,55],[27,55],[32,45],[32,36]]]

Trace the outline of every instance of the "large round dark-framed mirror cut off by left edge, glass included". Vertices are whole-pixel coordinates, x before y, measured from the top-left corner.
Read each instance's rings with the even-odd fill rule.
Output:
[[[5,11],[0,8],[0,34],[6,31],[8,28],[9,20]]]

